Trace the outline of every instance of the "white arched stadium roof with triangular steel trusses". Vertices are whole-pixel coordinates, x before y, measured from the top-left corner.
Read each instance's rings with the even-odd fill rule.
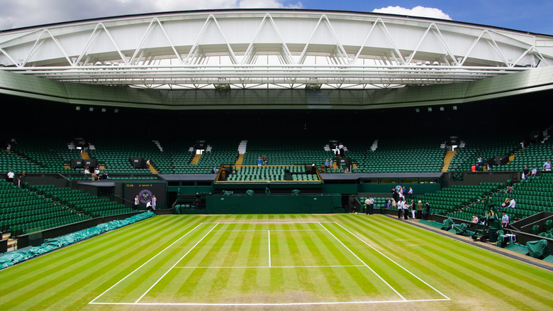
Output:
[[[147,89],[390,89],[553,65],[553,37],[313,10],[140,14],[0,33],[4,71]]]

